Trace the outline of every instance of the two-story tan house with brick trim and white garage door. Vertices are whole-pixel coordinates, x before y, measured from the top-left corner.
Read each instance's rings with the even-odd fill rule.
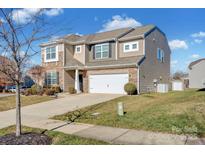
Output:
[[[59,84],[64,91],[123,94],[127,82],[138,92],[154,90],[156,80],[169,82],[171,51],[154,25],[67,35],[40,46],[45,84]]]

